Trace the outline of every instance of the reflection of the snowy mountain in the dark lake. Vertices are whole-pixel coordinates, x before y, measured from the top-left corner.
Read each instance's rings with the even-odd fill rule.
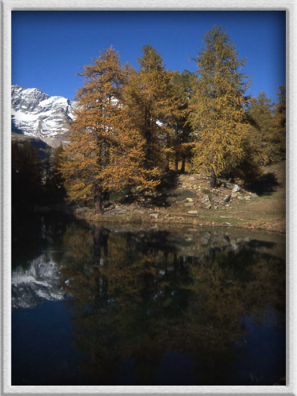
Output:
[[[26,268],[18,266],[11,273],[12,308],[31,308],[45,300],[61,300],[57,264],[44,253]]]

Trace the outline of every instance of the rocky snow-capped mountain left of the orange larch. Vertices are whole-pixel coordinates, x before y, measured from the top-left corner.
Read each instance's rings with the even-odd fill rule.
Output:
[[[50,97],[37,88],[12,85],[11,131],[56,147],[67,141],[67,121],[73,119],[75,105],[74,101],[60,96]]]

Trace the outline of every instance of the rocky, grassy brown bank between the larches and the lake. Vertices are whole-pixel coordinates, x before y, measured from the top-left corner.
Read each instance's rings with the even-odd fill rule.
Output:
[[[235,185],[240,190],[232,192]],[[209,179],[199,174],[172,173],[153,197],[139,194],[132,201],[126,198],[127,202],[115,202],[102,215],[95,216],[92,209],[77,215],[95,222],[243,227],[285,233],[286,162],[266,167],[263,176],[249,185],[241,180],[231,185],[219,180],[218,187],[211,189]]]

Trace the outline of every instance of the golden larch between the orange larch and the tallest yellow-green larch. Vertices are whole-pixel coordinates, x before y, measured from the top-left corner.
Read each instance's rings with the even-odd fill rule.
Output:
[[[174,84],[175,72],[165,70],[159,52],[148,44],[138,58],[139,71],[131,72],[124,100],[131,116],[131,126],[140,131],[146,142],[146,167],[168,169],[172,151],[174,114],[180,112],[181,92]]]

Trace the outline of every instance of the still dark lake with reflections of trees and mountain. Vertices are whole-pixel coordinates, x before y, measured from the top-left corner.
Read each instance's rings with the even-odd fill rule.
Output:
[[[285,385],[284,235],[14,220],[12,385]]]

